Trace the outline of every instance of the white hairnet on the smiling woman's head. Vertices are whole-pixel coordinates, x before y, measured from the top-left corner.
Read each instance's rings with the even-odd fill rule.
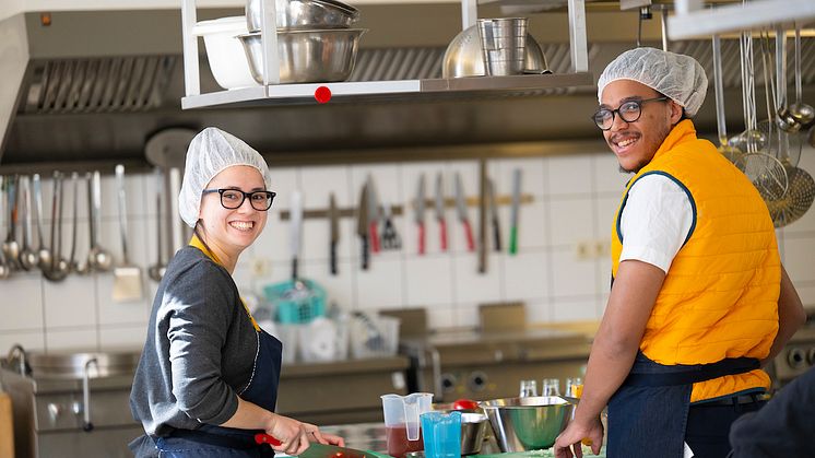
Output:
[[[223,169],[248,165],[260,172],[265,188],[272,186],[269,166],[263,157],[237,137],[214,127],[199,132],[187,149],[184,183],[178,195],[178,212],[190,227],[196,226],[201,208],[201,192]]]

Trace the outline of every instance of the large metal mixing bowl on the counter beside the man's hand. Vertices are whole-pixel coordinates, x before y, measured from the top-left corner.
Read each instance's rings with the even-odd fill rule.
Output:
[[[481,402],[501,451],[552,447],[575,406],[559,397],[505,398]]]

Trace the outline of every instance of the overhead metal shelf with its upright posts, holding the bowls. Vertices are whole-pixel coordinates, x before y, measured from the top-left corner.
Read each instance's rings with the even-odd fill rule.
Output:
[[[277,35],[261,32],[262,47],[265,49],[262,66],[264,84],[201,94],[198,37],[192,33],[197,24],[197,0],[184,0],[181,3],[181,35],[186,96],[181,98],[181,108],[315,104],[318,98],[316,97],[318,89],[324,92],[321,87],[328,87],[332,102],[340,102],[414,99],[414,97],[421,95],[471,97],[496,92],[511,94],[540,91],[544,93],[546,90],[591,86],[594,81],[592,75],[588,73],[584,1],[567,0],[571,69],[569,73],[565,74],[279,84]],[[275,2],[260,2],[260,4],[261,31],[275,30]],[[416,5],[416,8],[421,8],[421,5]],[[463,28],[475,24],[476,13],[477,0],[461,0]]]

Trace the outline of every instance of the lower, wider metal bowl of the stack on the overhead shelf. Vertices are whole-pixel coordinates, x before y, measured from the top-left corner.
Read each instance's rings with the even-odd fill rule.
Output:
[[[277,32],[281,83],[345,81],[351,77],[365,28]],[[255,80],[263,83],[263,46],[259,32],[239,35]]]

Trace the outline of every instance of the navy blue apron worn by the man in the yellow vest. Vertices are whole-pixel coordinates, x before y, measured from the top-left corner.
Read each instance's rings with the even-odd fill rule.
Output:
[[[693,384],[759,366],[751,357],[666,366],[638,352],[628,377],[609,401],[609,458],[682,458]]]

